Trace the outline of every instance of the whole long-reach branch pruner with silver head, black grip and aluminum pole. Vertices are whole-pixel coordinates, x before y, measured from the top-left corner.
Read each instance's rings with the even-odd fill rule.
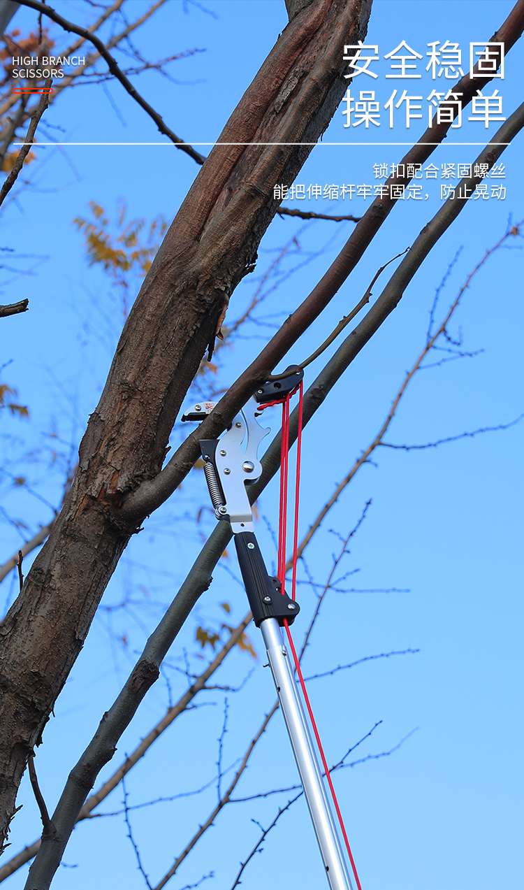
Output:
[[[254,624],[262,630],[329,885],[331,890],[353,890],[280,631],[284,623],[293,623],[300,606],[290,600],[277,578],[268,575],[254,536],[253,514],[246,491],[246,484],[260,478],[262,464],[257,450],[270,432],[257,423],[260,404],[271,401],[275,395],[281,399],[286,392],[294,392],[302,375],[302,371],[295,370],[286,379],[279,377],[278,382],[259,387],[222,439],[201,439],[200,449],[216,517],[230,522]],[[213,402],[203,402],[189,409],[182,420],[202,420],[212,409]],[[245,438],[246,447],[242,449]]]

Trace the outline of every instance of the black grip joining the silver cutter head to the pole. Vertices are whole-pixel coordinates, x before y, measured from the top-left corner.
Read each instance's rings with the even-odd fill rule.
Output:
[[[280,583],[268,575],[253,531],[240,531],[234,537],[238,563],[256,627],[260,627],[266,618],[278,619],[281,627],[285,618],[288,624],[292,624],[300,606],[286,594],[283,595]]]

